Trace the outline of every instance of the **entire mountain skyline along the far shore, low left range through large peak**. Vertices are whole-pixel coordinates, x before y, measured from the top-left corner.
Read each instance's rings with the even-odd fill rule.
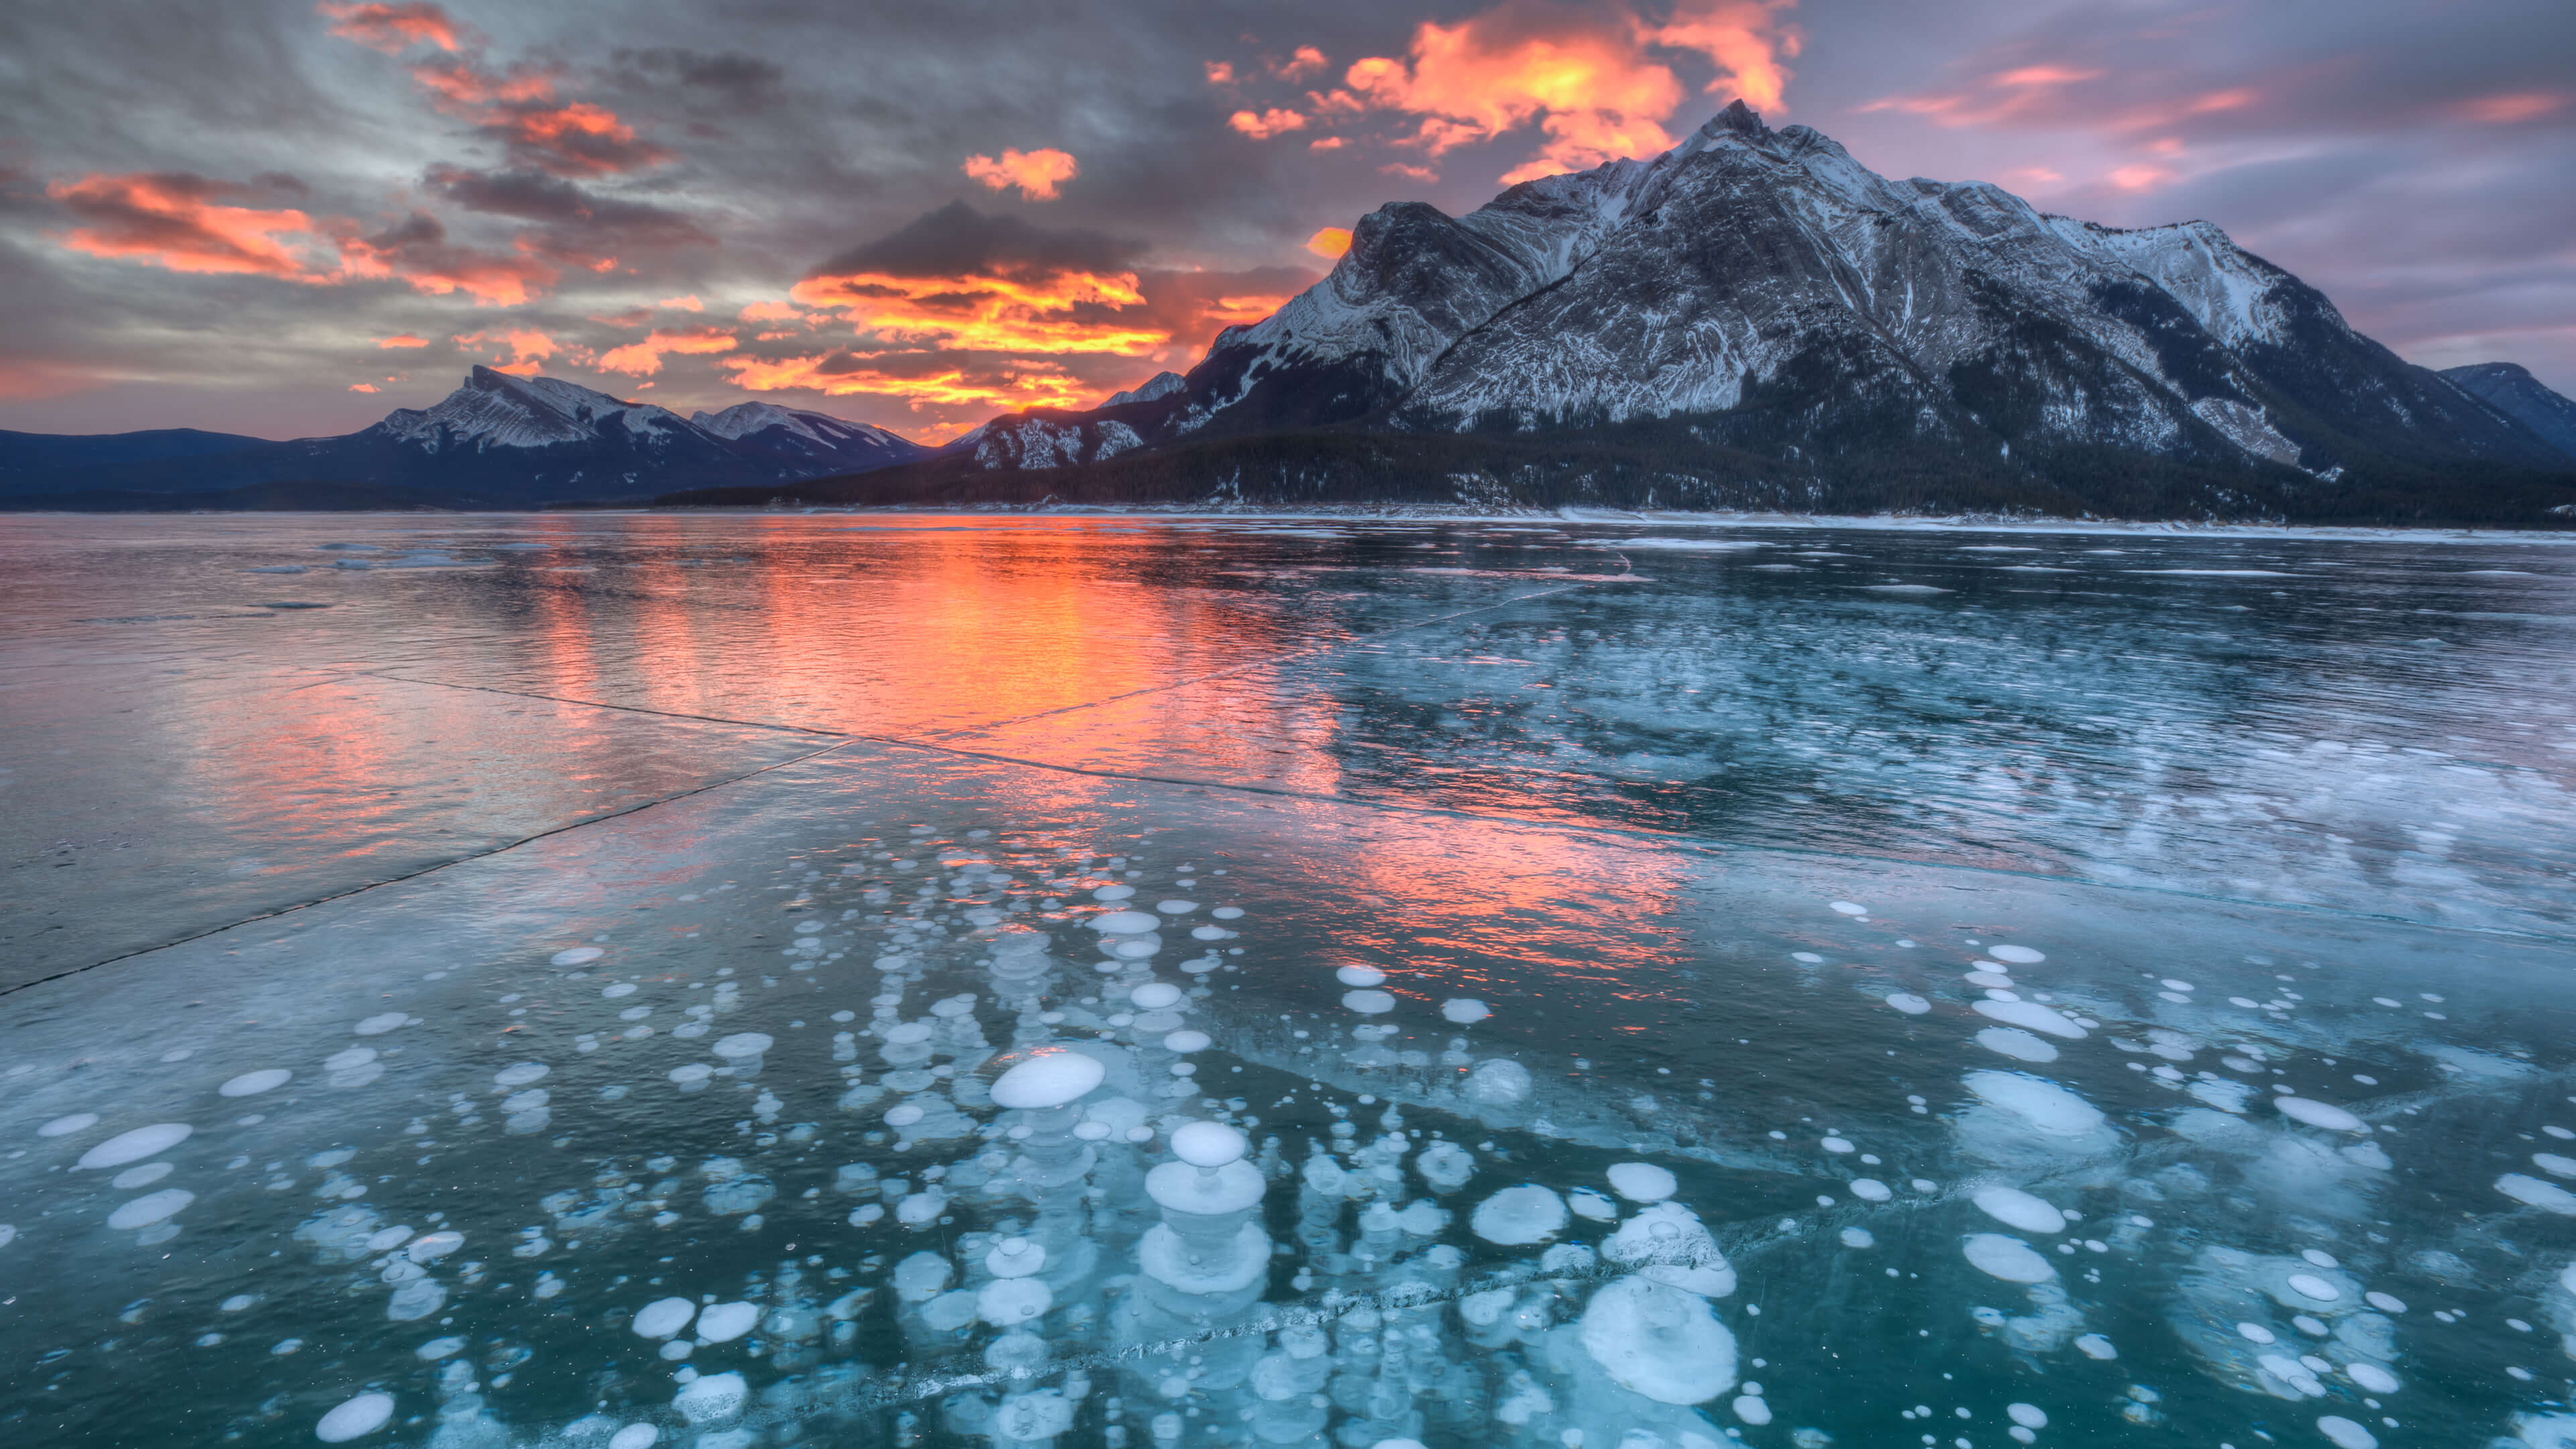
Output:
[[[938,451],[489,369],[345,438],[0,433],[0,505],[219,495],[2566,526],[2576,402],[2512,364],[2414,366],[2208,222],[2115,229],[1978,180],[1888,180],[1736,103],[1656,160],[1466,217],[1381,206],[1324,281],[1188,374]]]

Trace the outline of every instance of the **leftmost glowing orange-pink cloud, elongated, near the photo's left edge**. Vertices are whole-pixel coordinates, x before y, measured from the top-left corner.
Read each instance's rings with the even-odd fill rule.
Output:
[[[57,180],[46,196],[82,224],[57,237],[95,258],[126,258],[167,271],[337,281],[322,266],[322,235],[291,206],[260,209],[247,186],[191,173],[82,175]]]

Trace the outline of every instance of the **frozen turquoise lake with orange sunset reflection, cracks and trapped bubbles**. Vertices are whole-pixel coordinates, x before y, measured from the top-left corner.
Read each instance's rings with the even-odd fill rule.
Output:
[[[2576,1444],[2563,544],[0,547],[18,1441]]]

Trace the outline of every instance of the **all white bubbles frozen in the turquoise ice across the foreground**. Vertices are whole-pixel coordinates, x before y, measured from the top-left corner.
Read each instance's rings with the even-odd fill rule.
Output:
[[[997,879],[992,866],[979,874],[974,864],[951,861],[948,869],[958,871],[953,887],[969,900],[992,895],[984,890]],[[884,887],[876,887],[868,900],[884,905],[881,895]],[[1208,985],[1226,969],[1221,944],[1236,933],[1193,926],[1190,938],[1208,949],[1177,962],[1177,975],[1190,982],[1182,985],[1159,977],[1154,959],[1167,946],[1164,933],[1198,915],[1193,900],[1172,897],[1139,910],[1128,905],[1133,887],[1126,884],[1100,887],[1092,897],[1097,910],[1074,913],[1077,936],[1095,954],[1087,964],[1059,959],[1064,941],[1043,928],[981,905],[961,913],[971,931],[956,941],[935,938],[920,910],[876,913],[894,938],[873,954],[876,995],[866,1026],[858,1026],[855,1011],[835,1013],[853,1029],[835,1034],[832,1055],[842,1065],[832,1091],[842,1111],[881,1124],[871,1137],[886,1152],[842,1165],[832,1194],[858,1199],[845,1225],[871,1235],[868,1243],[894,1232],[925,1245],[899,1258],[873,1256],[858,1274],[811,1274],[819,1258],[809,1258],[781,1266],[752,1292],[703,1292],[708,1284],[701,1284],[696,1294],[662,1292],[616,1305],[634,1341],[667,1366],[667,1403],[626,1415],[590,1413],[554,1426],[544,1441],[747,1449],[791,1434],[796,1423],[863,1413],[894,1413],[899,1426],[909,1423],[904,1434],[938,1428],[1015,1449],[1066,1436],[1139,1449],[1401,1449],[1468,1439],[1718,1449],[1775,1426],[1775,1390],[1752,1374],[1777,1385],[1795,1369],[1772,1372],[1739,1351],[1739,1330],[1759,1307],[1736,1302],[1739,1263],[1685,1201],[1672,1165],[1631,1158],[1595,1165],[1587,1178],[1528,1181],[1492,1142],[1468,1145],[1497,1124],[1538,1134],[1548,1134],[1548,1124],[1535,1116],[1546,1091],[1533,1070],[1504,1052],[1479,1057],[1463,1036],[1443,1055],[1455,1080],[1445,1106],[1417,1104],[1417,1114],[1445,1111],[1432,1116],[1440,1127],[1409,1129],[1404,1111],[1388,1104],[1373,1114],[1370,1132],[1370,1114],[1360,1109],[1378,1101],[1360,1093],[1327,1104],[1332,1129],[1306,1140],[1298,1160],[1278,1134],[1257,1137],[1260,1124],[1244,1101],[1208,1096],[1211,1088],[1198,1080],[1208,1062],[1229,1055],[1257,1062],[1265,1052],[1242,1024],[1221,1018]],[[1850,902],[1834,902],[1834,910],[1865,918]],[[842,920],[855,915],[850,910]],[[1208,920],[1234,923],[1242,915],[1218,908]],[[848,938],[835,926],[799,926],[796,944],[783,951],[796,962],[788,969],[848,957],[858,928],[837,931]],[[605,954],[577,946],[554,954],[551,964],[580,972]],[[951,990],[927,1011],[907,1013],[943,954],[951,969],[961,957],[974,962],[981,975],[976,990]],[[2169,1201],[2205,1191],[2208,1163],[2223,1160],[2257,1189],[2331,1214],[2336,1194],[2365,1191],[2388,1173],[2391,1158],[2372,1124],[2349,1109],[2282,1093],[2272,1098],[2280,1122],[2262,1124],[2246,1111],[2249,1093],[2236,1091],[2244,1083],[2174,1073],[2172,1088],[2200,1106],[2172,1116],[2172,1129],[2202,1150],[2202,1160],[2138,1160],[2120,1122],[2027,1070],[2058,1060],[2056,1044],[2087,1042],[2105,1029],[2099,1006],[2050,1000],[2012,977],[2045,959],[2038,949],[1994,944],[1965,972],[1981,995],[1968,1003],[1963,1026],[1981,1049],[2012,1062],[1960,1078],[1965,1096],[1950,1116],[1950,1147],[1971,1171],[1947,1186],[1901,1178],[1880,1168],[1878,1152],[1829,1129],[1819,1150],[1834,1163],[1839,1196],[1819,1196],[1819,1207],[1829,1209],[1819,1222],[1839,1225],[1832,1243],[1844,1253],[1870,1253],[1878,1248],[1873,1222],[1883,1232],[1904,1214],[1947,1204],[1973,1209],[1978,1225],[1955,1238],[1953,1261],[2027,1305],[2009,1312],[1978,1305],[1973,1320],[2027,1361],[2053,1354],[2115,1361],[2120,1348],[2087,1320],[2071,1279],[2099,1281],[2079,1271],[2081,1263],[2141,1256],[2159,1225],[2128,1209],[2097,1207],[2087,1217],[2074,1196],[2110,1186],[2133,1204]],[[1404,1003],[1388,985],[1401,987],[1376,967],[1334,969],[1340,1006],[1358,1018],[1347,1031],[1352,1049],[1340,1052],[1340,1062],[1363,1073],[1401,1062],[1401,1052],[1388,1047],[1394,1029],[1386,1018]],[[2161,990],[2190,1003],[2197,987],[2164,980]],[[634,982],[613,980],[598,995],[621,1018],[636,1011],[623,1006],[636,995]],[[706,1013],[670,1036],[696,1047],[716,1031],[716,1016],[739,1008],[739,987],[719,987],[714,998]],[[1909,1018],[1935,1011],[1917,993],[1886,993],[1883,1000]],[[1484,1000],[1450,998],[1440,1016],[1473,1026],[1492,1011]],[[407,1024],[417,1018],[392,1011],[358,1021],[353,1034],[371,1039]],[[1010,1042],[992,1044],[989,1029],[1007,1031]],[[626,1034],[634,1036],[634,1029]],[[1218,1036],[1229,1036],[1229,1052],[1218,1052]],[[582,1049],[592,1049],[595,1039],[585,1034]],[[881,1062],[873,1075],[860,1065],[863,1039]],[[2151,1034],[2151,1055],[2166,1062],[2192,1060],[2195,1044],[2172,1031]],[[775,1127],[783,1104],[755,1078],[762,1078],[778,1039],[726,1031],[703,1049],[716,1062],[667,1070],[670,1091],[690,1098],[724,1083],[757,1088],[752,1119],[760,1129]],[[2239,1049],[2259,1052],[2251,1044]],[[363,1088],[381,1070],[376,1049],[355,1044],[319,1062],[319,1075],[337,1088]],[[559,1104],[541,1083],[551,1073],[546,1062],[510,1062],[492,1073],[489,1096],[500,1098],[505,1134],[549,1127]],[[216,1091],[260,1098],[294,1078],[291,1067],[260,1067]],[[623,1096],[629,1088],[611,1091]],[[1924,1111],[1922,1098],[1914,1101]],[[479,1122],[482,1098],[459,1093],[456,1104],[461,1124]],[[98,1127],[98,1114],[72,1114],[39,1132],[75,1137]],[[108,1214],[108,1227],[134,1232],[144,1245],[178,1232],[193,1194],[157,1183],[175,1171],[162,1158],[193,1132],[191,1124],[157,1122],[85,1147],[75,1173],[113,1171],[116,1189],[139,1191]],[[809,1124],[778,1134],[791,1142],[817,1137]],[[770,1137],[762,1132],[762,1140]],[[389,1222],[379,1207],[361,1201],[363,1183],[337,1176],[348,1158],[348,1150],[309,1158],[307,1165],[325,1171],[322,1196],[345,1201],[309,1217],[296,1243],[327,1263],[363,1263],[386,1289],[384,1318],[392,1323],[448,1312],[456,1294],[484,1276],[484,1266],[461,1253],[466,1232],[438,1212],[422,1217],[425,1230]],[[2576,1160],[2550,1152],[2537,1152],[2535,1165],[2576,1176]],[[647,1163],[647,1173],[675,1171],[670,1155]],[[706,1158],[698,1178],[703,1209],[742,1227],[757,1227],[762,1209],[781,1196],[770,1176],[732,1155]],[[629,1191],[634,1183],[623,1176],[600,1176],[616,1199],[611,1207],[652,1207],[657,1227],[680,1220],[665,1207],[683,1191],[680,1181],[665,1176],[639,1204],[641,1189]],[[2576,1214],[2576,1196],[2527,1173],[2506,1173],[2496,1189],[2519,1204]],[[587,1232],[613,1240],[621,1230],[608,1207],[574,1191],[549,1196],[546,1207],[554,1238]],[[1886,1220],[1868,1217],[1873,1212]],[[1736,1238],[1741,1227],[1721,1222]],[[1790,1227],[1783,1222],[1785,1235]],[[0,1245],[10,1238],[13,1230],[0,1227]],[[513,1258],[541,1258],[556,1248],[544,1225],[518,1238]],[[1790,1238],[1814,1232],[1801,1227]],[[2208,1225],[2190,1243],[2169,1318],[2182,1346],[2213,1377],[2275,1400],[2339,1410],[2311,1408],[2306,1421],[2339,1449],[2370,1449],[2378,1431],[2396,1426],[2383,1413],[2388,1400],[2409,1392],[2396,1328],[2406,1305],[2396,1294],[2324,1245],[2298,1253],[2233,1248],[2218,1243]],[[538,1274],[533,1297],[556,1297],[564,1284],[551,1271]],[[665,1284],[665,1274],[652,1284]],[[2576,1343],[2576,1266],[2553,1284],[2545,1312]],[[868,1374],[855,1361],[868,1336],[891,1341],[907,1366]],[[505,1426],[484,1403],[487,1385],[461,1359],[464,1346],[459,1336],[440,1336],[417,1348],[425,1364],[435,1364],[433,1415],[404,1403],[417,1390],[376,1379],[350,1385],[355,1392],[319,1413],[314,1436],[361,1441],[435,1418],[433,1444],[505,1441]],[[726,1359],[739,1346],[755,1348],[757,1359]],[[2014,1400],[2002,1413],[2004,1434],[2022,1444],[2038,1444],[2050,1428],[2050,1413],[2038,1403]],[[2154,1395],[2136,1397],[2125,1413],[2154,1423]],[[1904,1410],[1909,1421],[1932,1415],[1929,1405]],[[2561,1439],[2576,1444],[2576,1421],[2532,1410],[2514,1423],[2535,1449]],[[1821,1428],[1793,1423],[1780,1423],[1777,1434],[1806,1449],[1829,1439]]]

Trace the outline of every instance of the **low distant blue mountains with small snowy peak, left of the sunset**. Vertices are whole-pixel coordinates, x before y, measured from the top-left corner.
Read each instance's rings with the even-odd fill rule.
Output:
[[[0,433],[0,508],[531,508],[848,477],[927,454],[824,413],[739,402],[680,418],[479,366],[435,407],[343,438]]]

